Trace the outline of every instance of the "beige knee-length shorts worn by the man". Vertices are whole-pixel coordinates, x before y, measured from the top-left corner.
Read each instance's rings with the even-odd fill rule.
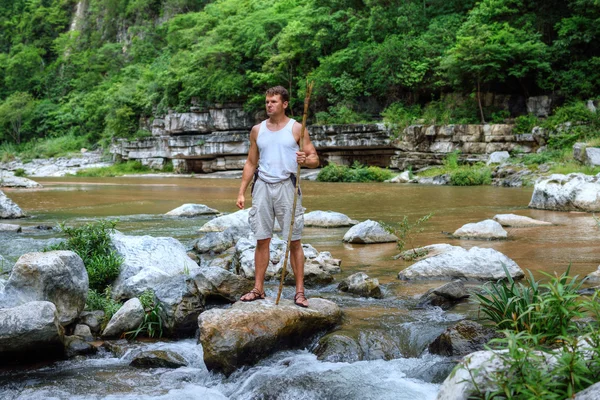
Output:
[[[292,219],[291,209],[294,204],[295,187],[290,179],[277,183],[267,183],[257,179],[252,191],[252,208],[248,214],[248,222],[256,240],[273,237],[275,218],[282,229],[283,239],[287,240]],[[296,202],[296,217],[292,240],[300,240],[304,228],[304,208],[302,195]]]

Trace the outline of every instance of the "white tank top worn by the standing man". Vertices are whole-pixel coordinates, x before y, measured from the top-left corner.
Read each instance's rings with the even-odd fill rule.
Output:
[[[267,128],[267,121],[260,124],[258,130],[258,176],[265,182],[277,183],[290,178],[298,169],[296,152],[300,150],[292,127],[296,121],[289,122],[277,132]]]

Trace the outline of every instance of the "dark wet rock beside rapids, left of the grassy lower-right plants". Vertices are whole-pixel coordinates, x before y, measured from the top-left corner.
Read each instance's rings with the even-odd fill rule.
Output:
[[[429,345],[429,352],[441,356],[462,357],[483,350],[484,346],[496,337],[499,336],[494,329],[473,321],[460,321],[438,336]]]

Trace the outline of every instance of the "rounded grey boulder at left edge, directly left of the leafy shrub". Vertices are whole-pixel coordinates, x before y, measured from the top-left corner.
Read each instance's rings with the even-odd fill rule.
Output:
[[[0,306],[49,301],[56,306],[60,323],[68,325],[83,311],[88,289],[87,271],[74,252],[28,253],[14,265]]]

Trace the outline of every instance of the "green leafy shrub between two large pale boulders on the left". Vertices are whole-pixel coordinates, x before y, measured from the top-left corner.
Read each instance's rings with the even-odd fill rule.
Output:
[[[117,221],[99,220],[79,227],[60,224],[67,240],[47,250],[71,250],[83,260],[88,272],[90,289],[104,292],[119,275],[122,258],[111,250],[110,234]]]

